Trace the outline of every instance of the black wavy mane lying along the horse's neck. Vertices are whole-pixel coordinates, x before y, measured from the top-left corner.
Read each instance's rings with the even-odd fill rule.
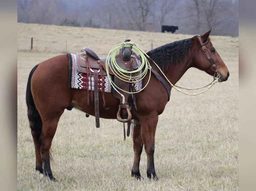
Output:
[[[147,52],[147,55],[162,70],[166,70],[169,65],[178,64],[184,59],[188,50],[192,47],[192,42],[195,37],[196,36],[157,47]]]

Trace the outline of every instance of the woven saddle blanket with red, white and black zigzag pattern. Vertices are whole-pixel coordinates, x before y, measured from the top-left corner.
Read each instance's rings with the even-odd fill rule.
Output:
[[[94,84],[94,76],[87,76],[86,73],[77,72],[77,56],[72,53],[67,53],[69,58],[69,79],[68,79],[68,87],[76,88],[80,90],[92,90],[94,91],[95,87],[98,88],[100,92],[104,90],[104,92],[112,93],[113,87],[109,81],[108,76],[98,76],[98,85]],[[137,60],[139,67],[141,66],[141,62]],[[110,75],[111,80],[114,82],[114,76]],[[133,91],[137,92],[144,87],[144,80],[138,81],[136,83],[131,83],[133,86]],[[104,87],[102,86],[104,85]]]

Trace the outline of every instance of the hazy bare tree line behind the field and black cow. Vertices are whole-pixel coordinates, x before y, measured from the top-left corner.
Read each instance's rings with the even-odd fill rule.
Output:
[[[18,22],[238,36],[238,0],[18,0]]]

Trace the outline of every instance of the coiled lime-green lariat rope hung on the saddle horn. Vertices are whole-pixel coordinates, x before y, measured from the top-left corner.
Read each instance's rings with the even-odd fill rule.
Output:
[[[116,62],[115,56],[116,54],[118,54],[118,51],[122,48],[122,46],[124,45],[124,47],[131,47],[132,49],[135,50],[138,55],[140,55],[142,61],[141,61],[141,66],[138,67],[138,69],[134,70],[134,71],[126,71],[123,70],[118,63]],[[114,46],[110,51],[109,54],[107,56],[106,59],[106,72],[110,81],[111,86],[119,93],[121,94],[118,90],[121,90],[123,92],[129,93],[129,94],[135,94],[138,92],[141,92],[142,90],[144,90],[146,88],[146,86],[149,83],[150,77],[151,77],[151,70],[149,70],[149,78],[148,81],[146,83],[146,85],[139,91],[137,92],[129,92],[126,90],[122,90],[121,88],[119,88],[118,86],[115,85],[115,83],[112,81],[110,74],[109,74],[109,68],[111,68],[110,70],[114,73],[114,75],[119,78],[120,80],[127,82],[127,83],[137,83],[140,82],[141,80],[143,80],[146,75],[147,75],[147,69],[151,69],[149,62],[147,60],[147,58],[145,57],[145,52],[143,50],[141,50],[137,44],[133,43],[133,42],[124,42],[122,44],[116,45]],[[110,62],[111,60],[111,62]],[[142,73],[138,76],[133,76],[132,74],[137,73],[139,71],[142,71]],[[118,89],[118,90],[117,90]],[[122,95],[122,94],[121,94]],[[123,97],[123,96],[122,96]]]

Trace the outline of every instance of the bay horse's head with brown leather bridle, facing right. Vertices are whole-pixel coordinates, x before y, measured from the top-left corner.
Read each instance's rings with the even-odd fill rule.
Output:
[[[211,42],[209,37],[211,30],[194,39],[196,41],[195,44],[198,46],[194,64],[196,68],[205,71],[209,75],[220,75],[218,81],[224,82],[228,80],[229,71]]]

